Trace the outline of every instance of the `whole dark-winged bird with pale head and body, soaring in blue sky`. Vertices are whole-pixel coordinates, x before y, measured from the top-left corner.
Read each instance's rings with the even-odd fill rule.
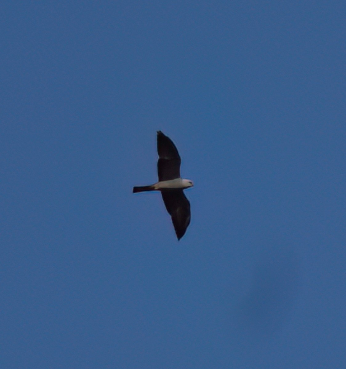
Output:
[[[157,172],[158,182],[150,186],[133,187],[133,193],[144,191],[161,191],[166,209],[171,215],[175,233],[181,239],[190,224],[190,203],[183,192],[192,187],[193,182],[180,176],[181,159],[172,140],[157,131]]]

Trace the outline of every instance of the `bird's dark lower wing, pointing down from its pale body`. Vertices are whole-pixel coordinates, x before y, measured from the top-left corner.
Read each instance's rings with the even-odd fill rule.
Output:
[[[162,199],[168,213],[171,215],[175,233],[181,239],[190,224],[190,203],[183,190],[162,190]]]

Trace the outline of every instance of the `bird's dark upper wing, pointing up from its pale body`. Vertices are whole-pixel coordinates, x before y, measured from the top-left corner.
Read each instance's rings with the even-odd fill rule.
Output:
[[[172,140],[161,131],[157,131],[157,172],[159,181],[180,177],[180,156]]]

